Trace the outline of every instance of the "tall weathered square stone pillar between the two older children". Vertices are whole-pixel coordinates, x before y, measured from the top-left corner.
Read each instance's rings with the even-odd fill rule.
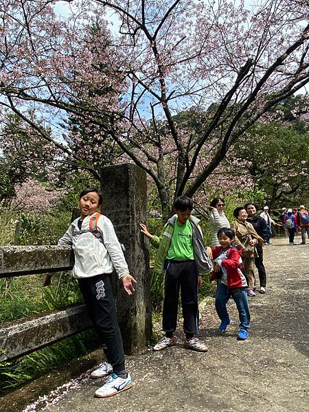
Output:
[[[130,274],[137,280],[135,293],[126,295],[115,280],[115,301],[126,354],[139,352],[152,334],[149,253],[139,222],[146,222],[146,173],[137,165],[115,165],[102,169],[102,213],[111,219]]]

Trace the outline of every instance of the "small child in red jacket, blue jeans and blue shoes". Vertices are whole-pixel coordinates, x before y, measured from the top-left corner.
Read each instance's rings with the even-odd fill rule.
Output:
[[[227,301],[233,297],[239,312],[240,330],[238,341],[248,339],[250,328],[250,312],[247,299],[247,281],[241,271],[241,251],[233,246],[235,233],[228,227],[222,227],[217,233],[220,247],[211,247],[214,260],[214,271],[211,279],[218,279],[216,295],[216,311],[221,319],[220,332],[225,332],[231,323],[227,312]]]

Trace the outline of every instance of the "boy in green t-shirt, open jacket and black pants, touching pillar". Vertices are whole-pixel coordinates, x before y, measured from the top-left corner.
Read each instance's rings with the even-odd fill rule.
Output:
[[[152,236],[146,225],[140,224],[141,233],[158,248],[154,271],[165,270],[165,297],[163,304],[163,330],[165,336],[153,350],[159,351],[176,343],[179,290],[183,307],[184,347],[207,352],[207,346],[194,335],[198,332],[198,287],[203,284],[203,273],[210,271],[211,261],[203,245],[199,220],[191,216],[193,203],[187,196],[174,202],[176,214],[163,227],[160,238]],[[209,248],[210,251],[210,248]]]

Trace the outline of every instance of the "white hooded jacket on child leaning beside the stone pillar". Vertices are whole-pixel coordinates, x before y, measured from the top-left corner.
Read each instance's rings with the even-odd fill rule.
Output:
[[[87,231],[91,216],[86,216],[82,220],[81,231],[78,229],[80,218],[74,220],[58,242],[59,245],[72,246],[75,256],[73,277],[80,279],[112,273],[114,268],[119,279],[130,275],[113,223],[104,215],[98,218],[97,229],[100,230],[103,240],[100,242],[93,233]],[[84,233],[80,233],[83,231]]]

